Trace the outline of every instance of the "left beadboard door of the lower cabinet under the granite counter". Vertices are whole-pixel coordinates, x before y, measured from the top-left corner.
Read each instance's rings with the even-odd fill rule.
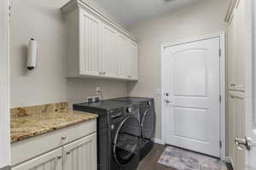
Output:
[[[26,161],[13,170],[62,170],[62,149],[54,150],[31,161]]]

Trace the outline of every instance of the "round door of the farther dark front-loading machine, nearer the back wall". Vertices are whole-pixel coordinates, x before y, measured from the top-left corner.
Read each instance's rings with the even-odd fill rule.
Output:
[[[141,122],[143,140],[150,140],[154,136],[154,110],[148,108],[143,111]]]

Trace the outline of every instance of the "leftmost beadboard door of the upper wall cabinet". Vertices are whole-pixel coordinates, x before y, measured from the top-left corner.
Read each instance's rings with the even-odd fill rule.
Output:
[[[102,22],[80,10],[79,74],[99,76],[102,58]]]

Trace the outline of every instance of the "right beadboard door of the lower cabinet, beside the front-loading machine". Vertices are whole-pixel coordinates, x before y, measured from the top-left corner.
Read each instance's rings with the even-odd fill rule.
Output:
[[[64,146],[64,170],[96,170],[96,133]]]

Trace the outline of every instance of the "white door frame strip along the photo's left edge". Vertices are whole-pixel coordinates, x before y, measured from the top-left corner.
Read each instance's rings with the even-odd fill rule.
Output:
[[[0,1],[0,169],[10,165],[9,0]]]

